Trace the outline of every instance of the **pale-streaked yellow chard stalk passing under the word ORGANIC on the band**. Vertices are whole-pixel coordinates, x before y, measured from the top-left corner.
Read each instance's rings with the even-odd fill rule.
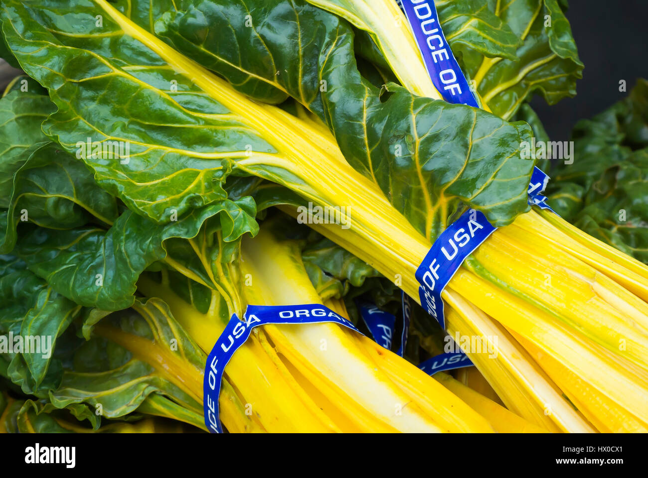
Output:
[[[298,260],[295,244],[278,242],[262,230],[256,238],[244,240],[242,250],[242,270],[250,274],[253,284],[245,288],[249,303],[321,303]],[[367,337],[330,323],[266,325],[264,330],[275,344],[290,344],[290,354],[305,358],[297,367],[308,365],[329,378],[351,401],[362,404],[375,416],[374,427],[380,429],[382,422],[384,431],[490,431],[487,422],[461,400]],[[283,347],[278,350],[282,352]],[[432,396],[422,396],[421,390],[401,389],[384,372],[387,364],[392,370],[396,367],[399,372],[417,377],[429,393],[434,393],[434,402],[428,403]],[[412,400],[408,392],[415,392],[419,400]]]

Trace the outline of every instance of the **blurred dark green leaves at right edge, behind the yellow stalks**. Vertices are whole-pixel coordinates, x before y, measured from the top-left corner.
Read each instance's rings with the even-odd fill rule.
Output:
[[[572,164],[551,171],[551,207],[648,264],[648,81],[572,131]]]

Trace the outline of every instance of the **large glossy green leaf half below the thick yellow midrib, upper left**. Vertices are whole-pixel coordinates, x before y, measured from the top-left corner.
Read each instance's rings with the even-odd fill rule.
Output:
[[[249,157],[250,150],[274,152],[189,73],[124,34],[97,2],[3,6],[6,40],[58,107],[43,130],[84,157],[97,183],[133,211],[169,222],[176,213],[222,201],[232,159]],[[88,138],[106,152],[93,155],[97,144],[84,152]],[[120,146],[121,154],[109,146]]]

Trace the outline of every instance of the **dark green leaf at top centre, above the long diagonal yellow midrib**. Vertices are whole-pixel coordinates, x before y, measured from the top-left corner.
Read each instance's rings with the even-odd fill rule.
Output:
[[[246,16],[252,27],[246,26]],[[321,69],[330,63],[343,74],[354,73],[349,82],[361,81],[354,72],[350,25],[303,1],[185,2],[184,10],[168,12],[156,22],[156,34],[238,91],[268,103],[292,96],[322,118],[320,82],[329,78]],[[345,54],[350,64],[336,61],[336,54]]]

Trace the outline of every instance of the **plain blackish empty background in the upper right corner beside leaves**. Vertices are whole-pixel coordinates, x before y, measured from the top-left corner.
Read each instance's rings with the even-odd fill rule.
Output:
[[[570,0],[567,19],[585,65],[577,95],[553,106],[538,95],[531,100],[554,141],[569,139],[579,119],[625,98],[636,78],[648,78],[648,0]],[[626,82],[625,93],[619,80]]]

